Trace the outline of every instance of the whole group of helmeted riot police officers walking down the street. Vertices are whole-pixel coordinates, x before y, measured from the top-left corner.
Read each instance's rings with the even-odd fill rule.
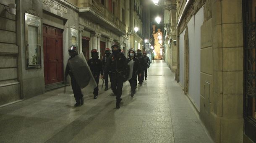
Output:
[[[97,85],[99,84],[100,78],[105,80],[105,91],[108,90],[108,77],[110,77],[111,89],[116,96],[116,108],[119,109],[120,102],[122,100],[121,95],[123,83],[128,79],[129,76],[128,62],[133,60],[132,77],[128,80],[131,85],[131,97],[133,97],[137,88],[137,77],[138,84],[140,85],[142,85],[144,79],[146,80],[147,78],[150,60],[149,57],[146,56],[146,52],[144,51],[142,54],[140,49],[138,49],[136,52],[133,51],[133,49],[130,49],[128,51],[129,57],[126,59],[123,52],[121,52],[120,43],[118,42],[114,42],[111,48],[112,54],[109,48],[105,49],[105,56],[102,61],[99,59],[99,52],[96,49],[91,50],[91,59],[89,59],[87,63],[95,81],[97,82]],[[69,48],[68,52],[71,56],[70,59],[78,55],[78,50],[74,46]],[[65,77],[67,77],[68,74],[71,77],[71,86],[76,100],[76,104],[74,106],[81,106],[84,103],[81,87],[79,87],[77,84],[76,79],[73,77],[73,74],[67,65]],[[94,99],[97,99],[98,91],[99,87],[97,86],[93,92]]]

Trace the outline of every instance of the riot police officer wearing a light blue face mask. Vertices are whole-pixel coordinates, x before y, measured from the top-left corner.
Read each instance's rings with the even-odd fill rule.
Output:
[[[141,66],[140,66],[140,61],[135,57],[135,51],[133,49],[130,49],[128,51],[128,56],[127,58],[127,63],[131,60],[133,60],[133,75],[132,78],[129,80],[129,83],[131,85],[131,97],[134,96],[136,92],[136,87],[137,87],[137,75],[141,77]]]

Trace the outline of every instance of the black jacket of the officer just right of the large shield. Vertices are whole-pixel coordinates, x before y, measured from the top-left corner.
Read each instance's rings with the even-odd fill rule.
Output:
[[[87,62],[93,74],[103,74],[102,61],[100,59],[89,59]]]

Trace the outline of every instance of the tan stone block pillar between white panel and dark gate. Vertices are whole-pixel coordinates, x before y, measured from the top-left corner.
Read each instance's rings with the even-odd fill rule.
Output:
[[[212,45],[212,50],[208,52],[212,52],[212,66],[205,66],[205,70],[212,70],[213,89],[210,89],[209,100],[205,100],[210,113],[200,112],[200,116],[216,142],[242,142],[242,0],[211,0],[206,7],[206,11],[212,11],[212,20],[208,20],[209,14],[206,13],[205,27],[202,28],[207,34],[211,32],[209,26],[212,25],[212,39],[204,39],[201,44],[204,47]],[[201,82],[204,81],[201,79]]]

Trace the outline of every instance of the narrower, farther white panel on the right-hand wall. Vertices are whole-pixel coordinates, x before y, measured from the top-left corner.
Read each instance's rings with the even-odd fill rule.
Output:
[[[184,88],[184,76],[185,76],[185,72],[184,72],[184,69],[185,69],[185,62],[184,62],[184,60],[185,60],[185,57],[184,57],[184,54],[185,54],[185,52],[184,52],[184,35],[185,35],[185,31],[186,30],[184,30],[181,34],[180,34],[180,41],[179,41],[179,43],[180,43],[180,46],[179,46],[179,56],[180,56],[180,58],[179,58],[179,62],[180,62],[180,84],[181,84],[181,86]]]

